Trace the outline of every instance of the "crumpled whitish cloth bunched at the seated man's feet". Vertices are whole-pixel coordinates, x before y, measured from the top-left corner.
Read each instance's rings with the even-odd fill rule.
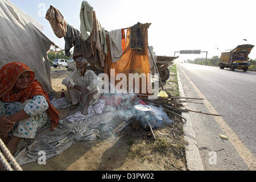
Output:
[[[67,116],[67,119],[69,122],[72,123],[75,121],[81,121],[83,119],[89,118],[94,114],[102,114],[105,104],[106,104],[106,101],[100,99],[97,101],[95,105],[90,105],[88,107],[88,115],[83,115],[80,111],[78,111],[73,115]]]

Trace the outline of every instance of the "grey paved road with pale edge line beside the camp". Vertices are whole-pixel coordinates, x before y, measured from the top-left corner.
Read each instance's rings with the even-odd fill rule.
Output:
[[[185,96],[204,96],[209,101],[208,107],[206,104],[188,103],[189,109],[210,113],[209,109],[213,107],[218,114],[224,115],[218,119],[189,112],[204,169],[255,169],[256,72],[230,71],[195,64],[179,64],[178,71]],[[223,140],[218,134],[229,135],[230,138]],[[234,139],[234,136],[238,139]],[[211,151],[217,154],[216,163],[211,158]]]

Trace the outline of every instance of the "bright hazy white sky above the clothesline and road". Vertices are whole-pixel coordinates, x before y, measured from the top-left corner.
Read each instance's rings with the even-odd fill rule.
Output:
[[[81,0],[10,0],[44,26],[43,33],[64,48],[64,38],[55,36],[44,17],[49,6],[59,9],[69,24],[80,30]],[[117,30],[134,24],[152,23],[148,44],[159,56],[174,56],[175,51],[208,51],[208,58],[220,56],[225,49],[240,44],[256,46],[255,0],[88,0],[105,30]],[[45,5],[40,6],[41,3]],[[43,12],[43,14],[42,14]],[[247,39],[247,42],[243,39]],[[218,48],[218,49],[217,49]],[[205,57],[179,55],[179,60]],[[249,55],[256,59],[256,47]]]

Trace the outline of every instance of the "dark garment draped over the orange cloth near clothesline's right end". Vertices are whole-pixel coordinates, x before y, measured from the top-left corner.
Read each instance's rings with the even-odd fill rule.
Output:
[[[131,49],[143,50],[143,26],[139,22],[131,27]]]

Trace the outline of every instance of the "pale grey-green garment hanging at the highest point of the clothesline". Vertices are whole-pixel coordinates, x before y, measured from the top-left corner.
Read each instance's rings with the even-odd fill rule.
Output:
[[[80,31],[82,40],[89,38],[88,32],[93,30],[93,7],[87,1],[82,1],[80,10]]]

